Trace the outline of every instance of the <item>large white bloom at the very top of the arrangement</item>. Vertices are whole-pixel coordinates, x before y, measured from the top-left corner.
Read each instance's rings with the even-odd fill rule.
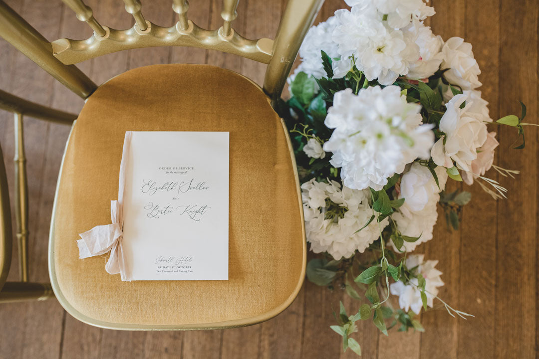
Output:
[[[340,24],[333,32],[339,61],[333,62],[334,78],[341,78],[353,65],[370,80],[391,85],[406,75],[420,58],[416,44],[420,19],[434,10],[422,0],[353,0],[350,11],[335,12]],[[429,9],[432,9],[429,10]],[[384,20],[384,16],[387,19]]]

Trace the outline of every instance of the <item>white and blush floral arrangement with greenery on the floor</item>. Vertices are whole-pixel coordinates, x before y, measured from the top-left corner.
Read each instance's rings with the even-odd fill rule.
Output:
[[[494,199],[506,189],[486,177],[499,143],[494,125],[513,126],[524,147],[520,117],[493,121],[481,98],[472,45],[444,41],[423,20],[423,0],[346,0],[351,7],[313,26],[289,78],[292,97],[281,115],[292,135],[310,250],[307,277],[342,287],[358,303],[341,303],[331,326],[343,348],[361,354],[355,322],[424,330],[421,309],[444,285],[438,261],[411,254],[433,238],[438,203],[453,229],[468,192],[445,192],[448,180],[478,184]],[[360,294],[361,293],[361,294]],[[398,308],[390,297],[398,298]],[[363,302],[363,304],[360,304]]]

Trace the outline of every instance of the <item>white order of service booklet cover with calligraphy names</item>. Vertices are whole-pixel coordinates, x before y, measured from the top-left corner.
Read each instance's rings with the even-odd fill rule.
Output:
[[[229,132],[132,132],[127,152],[127,277],[227,280]]]

